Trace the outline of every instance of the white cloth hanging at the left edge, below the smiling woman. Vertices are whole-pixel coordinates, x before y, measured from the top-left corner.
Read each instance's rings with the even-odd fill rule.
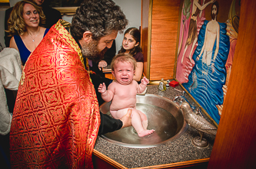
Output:
[[[18,89],[22,76],[21,65],[18,50],[6,47],[0,52],[0,135],[10,132],[12,115],[8,111],[5,89]]]

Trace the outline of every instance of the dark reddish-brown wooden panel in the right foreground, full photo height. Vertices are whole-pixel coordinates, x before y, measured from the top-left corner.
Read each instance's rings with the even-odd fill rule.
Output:
[[[256,1],[241,1],[238,44],[208,168],[256,168]]]

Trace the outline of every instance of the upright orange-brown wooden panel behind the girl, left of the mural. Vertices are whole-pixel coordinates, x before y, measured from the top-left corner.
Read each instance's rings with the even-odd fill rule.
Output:
[[[172,79],[180,0],[154,0],[151,21],[150,80]]]

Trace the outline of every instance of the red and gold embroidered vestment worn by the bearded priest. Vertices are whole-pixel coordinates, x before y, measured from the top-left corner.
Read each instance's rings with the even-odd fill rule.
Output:
[[[81,50],[58,21],[22,73],[10,132],[12,168],[91,168],[99,124]]]

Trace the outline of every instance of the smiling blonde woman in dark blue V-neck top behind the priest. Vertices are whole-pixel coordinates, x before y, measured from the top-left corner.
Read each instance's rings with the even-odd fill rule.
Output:
[[[19,51],[23,66],[48,32],[41,26],[44,23],[45,15],[35,2],[24,0],[15,4],[8,19],[7,32],[13,36],[10,47]]]

